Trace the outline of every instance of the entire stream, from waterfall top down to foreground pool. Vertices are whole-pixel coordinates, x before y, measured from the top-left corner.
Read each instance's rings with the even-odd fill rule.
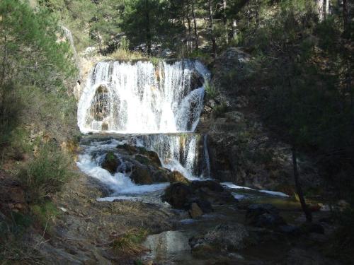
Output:
[[[98,201],[139,200],[171,206],[161,201],[167,183],[135,184],[130,165],[117,146],[143,147],[159,155],[162,167],[178,171],[190,181],[212,179],[207,135],[195,133],[203,109],[205,84],[210,78],[200,61],[101,61],[93,68],[81,93],[78,125],[81,140],[77,165],[110,190]],[[108,152],[120,159],[118,172],[101,167]],[[262,198],[287,200],[277,192],[257,191],[222,183],[239,200]],[[179,211],[176,230],[149,235],[143,259],[176,264],[204,264],[190,253],[188,240],[219,223],[242,218],[236,206],[217,206],[215,212],[191,219]],[[242,213],[244,214],[244,213]],[[239,253],[229,253],[242,261]]]

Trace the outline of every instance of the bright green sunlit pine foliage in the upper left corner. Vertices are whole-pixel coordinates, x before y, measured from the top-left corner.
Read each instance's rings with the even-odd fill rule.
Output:
[[[49,89],[75,72],[69,44],[57,42],[60,30],[49,11],[3,0],[0,17],[0,98],[11,81]]]

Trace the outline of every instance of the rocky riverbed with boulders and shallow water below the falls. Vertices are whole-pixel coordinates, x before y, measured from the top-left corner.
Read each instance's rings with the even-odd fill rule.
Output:
[[[133,148],[130,159],[144,153]],[[328,212],[302,225],[299,204],[284,195],[213,180],[171,182],[128,198],[79,174],[53,198],[60,213],[37,239],[40,254],[52,264],[336,264],[324,257]],[[137,230],[146,239],[136,251],[115,247]]]

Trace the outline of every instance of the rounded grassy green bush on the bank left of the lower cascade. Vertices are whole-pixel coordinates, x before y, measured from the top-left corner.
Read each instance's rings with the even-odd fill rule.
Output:
[[[69,155],[52,143],[45,143],[38,155],[30,160],[19,172],[18,177],[26,187],[26,196],[30,203],[38,204],[43,199],[58,192],[74,173]]]

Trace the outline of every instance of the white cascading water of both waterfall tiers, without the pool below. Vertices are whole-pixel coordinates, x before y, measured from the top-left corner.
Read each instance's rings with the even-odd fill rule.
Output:
[[[193,133],[209,77],[200,61],[101,61],[91,72],[79,100],[79,128],[86,134],[128,135],[125,141],[155,151],[164,167],[189,179],[210,177],[206,139]],[[137,187],[128,176],[110,175],[103,170],[103,155],[115,146],[114,141],[83,146],[79,167],[118,194],[139,194],[166,187]]]

